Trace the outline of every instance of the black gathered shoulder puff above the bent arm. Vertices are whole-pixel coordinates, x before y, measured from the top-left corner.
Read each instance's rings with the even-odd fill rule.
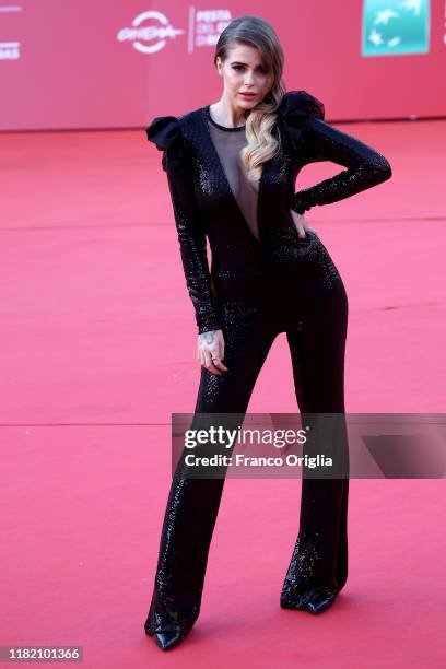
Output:
[[[312,117],[325,119],[325,106],[317,97],[306,91],[289,91],[281,99],[279,118],[295,151],[304,146],[303,130],[305,121]]]

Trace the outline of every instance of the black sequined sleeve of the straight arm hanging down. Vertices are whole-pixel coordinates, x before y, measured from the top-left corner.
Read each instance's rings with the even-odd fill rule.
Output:
[[[146,129],[148,139],[163,151],[174,218],[178,233],[186,285],[195,308],[199,333],[221,328],[212,302],[206,233],[193,198],[190,164],[179,122],[175,117],[156,117]]]

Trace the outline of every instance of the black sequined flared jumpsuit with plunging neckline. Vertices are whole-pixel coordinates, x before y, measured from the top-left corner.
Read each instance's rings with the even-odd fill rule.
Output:
[[[280,151],[262,167],[255,227],[231,188],[207,107],[178,118],[157,117],[148,128],[148,138],[163,152],[198,330],[220,328],[224,334],[228,372],[216,376],[200,367],[196,416],[233,413],[243,419],[281,332],[290,349],[300,412],[344,412],[347,293],[319,236],[307,232],[305,239],[298,238],[290,209],[350,197],[386,180],[391,171],[384,156],[326,124],[324,116],[322,103],[305,91],[283,97],[277,124]],[[320,160],[348,169],[294,192],[300,169]],[[339,447],[348,449],[347,436]],[[144,623],[148,634],[187,634],[196,622],[223,486],[224,478],[187,478],[183,469],[173,478]],[[298,533],[280,597],[283,608],[305,608],[315,596],[336,596],[343,587],[348,491],[348,479],[302,480]]]

